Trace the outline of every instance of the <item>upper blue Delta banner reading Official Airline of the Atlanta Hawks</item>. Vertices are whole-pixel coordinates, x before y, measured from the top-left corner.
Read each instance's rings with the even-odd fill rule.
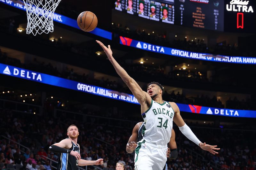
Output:
[[[256,64],[256,57],[240,57],[240,56],[225,56],[225,55],[214,55],[207,53],[197,53],[192,51],[185,51],[175,48],[162,47],[154,44],[149,44],[142,41],[133,40],[127,37],[120,36],[120,44],[147,50],[155,53],[173,55],[177,57],[214,61],[222,63],[239,63],[239,64]]]

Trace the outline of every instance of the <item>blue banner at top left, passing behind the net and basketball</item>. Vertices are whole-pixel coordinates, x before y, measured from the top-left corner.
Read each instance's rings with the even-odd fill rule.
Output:
[[[21,9],[23,11],[26,11],[26,7],[24,5],[24,2],[23,1],[20,1],[20,0],[15,0],[15,1],[11,1],[11,0],[0,0],[1,3],[4,3],[6,5],[10,5],[12,7],[15,7],[15,8],[18,8],[18,9]],[[58,8],[58,7],[57,7]],[[38,11],[39,13],[40,11]],[[25,16],[25,15],[24,15]],[[67,26],[71,26],[71,27],[74,27],[74,28],[77,28],[77,29],[80,29],[78,26],[77,26],[77,22],[75,19],[72,19],[72,18],[68,18],[64,15],[60,15],[58,13],[54,13],[53,15],[53,20],[56,21],[56,22],[59,22],[61,24],[65,24]],[[95,28],[93,31],[91,32],[88,32],[88,33],[92,33],[94,35],[98,35],[100,37],[103,37],[103,38],[106,38],[106,39],[109,39],[109,40],[112,40],[112,33],[111,32],[108,32],[106,30],[103,30],[103,29],[100,29],[100,28]]]

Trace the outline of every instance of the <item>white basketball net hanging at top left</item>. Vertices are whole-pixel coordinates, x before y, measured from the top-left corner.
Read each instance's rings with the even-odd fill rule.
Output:
[[[54,11],[61,0],[23,0],[28,17],[27,34],[53,32]]]

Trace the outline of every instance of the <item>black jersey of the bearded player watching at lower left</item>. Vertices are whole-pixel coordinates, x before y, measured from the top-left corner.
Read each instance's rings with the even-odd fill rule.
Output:
[[[72,142],[72,147],[69,149],[80,153],[78,144],[74,144],[73,142]],[[78,165],[78,160],[76,159],[76,157],[70,155],[69,153],[61,153],[59,156],[57,170],[74,170],[74,169],[77,169],[77,165]]]

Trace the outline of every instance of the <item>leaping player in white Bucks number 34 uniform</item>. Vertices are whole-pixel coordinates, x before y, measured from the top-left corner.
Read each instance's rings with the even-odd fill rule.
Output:
[[[110,45],[108,47],[100,41],[96,41],[108,56],[108,60],[114,66],[117,74],[132,91],[141,105],[141,114],[145,122],[143,139],[138,142],[135,149],[135,170],[163,170],[166,158],[167,144],[171,138],[172,121],[176,123],[180,131],[192,142],[203,150],[212,154],[220,150],[217,146],[200,142],[192,130],[186,125],[180,115],[180,109],[174,102],[166,102],[162,99],[164,88],[156,82],[148,85],[144,92],[138,83],[116,62],[112,56]]]

